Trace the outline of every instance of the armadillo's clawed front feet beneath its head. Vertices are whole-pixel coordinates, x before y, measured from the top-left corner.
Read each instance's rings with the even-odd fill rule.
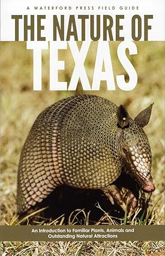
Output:
[[[114,204],[113,199],[115,202],[122,208],[122,210],[128,210],[130,213],[134,211],[137,207],[137,199],[133,195],[133,193],[125,189],[125,193],[122,193],[122,190],[119,189],[116,185],[112,184],[107,187],[101,189],[107,198]]]

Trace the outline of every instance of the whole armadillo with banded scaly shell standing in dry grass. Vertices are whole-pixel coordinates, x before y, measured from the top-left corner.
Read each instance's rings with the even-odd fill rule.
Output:
[[[151,149],[143,127],[152,104],[134,120],[124,106],[94,95],[62,99],[35,120],[20,155],[17,212],[24,213],[55,190],[67,185],[100,189],[112,204],[131,209],[115,181],[129,173],[144,192],[155,190],[151,176]]]

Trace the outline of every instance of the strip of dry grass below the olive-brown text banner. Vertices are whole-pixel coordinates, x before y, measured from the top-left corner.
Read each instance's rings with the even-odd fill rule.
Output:
[[[164,242],[3,242],[2,256],[163,256]],[[3,254],[4,253],[4,254]]]

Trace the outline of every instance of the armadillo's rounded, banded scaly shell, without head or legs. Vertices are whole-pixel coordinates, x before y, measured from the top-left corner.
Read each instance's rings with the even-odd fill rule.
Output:
[[[35,120],[20,155],[17,212],[57,186],[100,189],[118,178],[117,106],[92,95],[71,96]]]

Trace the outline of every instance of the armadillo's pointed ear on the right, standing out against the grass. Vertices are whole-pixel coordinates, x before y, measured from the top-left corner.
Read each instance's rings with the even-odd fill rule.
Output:
[[[150,116],[151,116],[151,110],[152,110],[152,105],[154,104],[154,102],[149,105],[148,108],[145,108],[145,110],[143,110],[142,112],[140,112],[134,119],[134,122],[137,123],[137,125],[139,127],[144,127],[148,124]]]

